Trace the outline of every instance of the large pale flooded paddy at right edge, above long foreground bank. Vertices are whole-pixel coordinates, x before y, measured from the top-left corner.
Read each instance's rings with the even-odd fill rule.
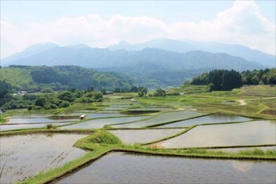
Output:
[[[276,121],[199,125],[185,134],[152,146],[182,148],[263,144],[276,144]]]

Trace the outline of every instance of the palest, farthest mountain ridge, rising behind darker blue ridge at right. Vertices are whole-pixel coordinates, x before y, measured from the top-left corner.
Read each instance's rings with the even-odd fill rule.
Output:
[[[155,39],[144,43],[130,44],[125,41],[117,45],[110,45],[110,50],[143,50],[144,48],[159,48],[173,52],[190,52],[201,50],[212,53],[226,53],[235,57],[242,57],[248,61],[255,61],[262,65],[275,67],[275,56],[259,50],[250,49],[244,45],[231,45],[224,43],[208,43],[195,41],[177,41],[173,39]]]

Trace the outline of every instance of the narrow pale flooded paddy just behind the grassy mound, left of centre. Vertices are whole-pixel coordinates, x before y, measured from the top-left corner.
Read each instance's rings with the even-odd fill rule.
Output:
[[[104,127],[104,125],[140,121],[141,119],[148,119],[150,117],[151,116],[131,116],[131,117],[121,117],[121,118],[92,119],[88,121],[83,121],[81,123],[64,126],[61,128],[63,129],[102,128]]]

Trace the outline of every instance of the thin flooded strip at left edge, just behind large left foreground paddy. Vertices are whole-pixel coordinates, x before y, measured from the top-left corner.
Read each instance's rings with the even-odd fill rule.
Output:
[[[46,125],[67,125],[70,123],[36,123],[36,124],[16,124],[16,125],[0,125],[0,131],[6,130],[17,130],[17,129],[27,129],[27,128],[36,128],[36,127],[46,127]]]

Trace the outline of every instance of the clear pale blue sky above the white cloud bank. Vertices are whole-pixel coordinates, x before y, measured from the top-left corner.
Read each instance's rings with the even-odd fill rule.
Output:
[[[275,23],[276,1],[255,1],[260,12]],[[114,14],[155,17],[166,22],[214,19],[217,12],[233,6],[233,1],[1,1],[5,21],[54,21],[95,13],[108,19]]]

